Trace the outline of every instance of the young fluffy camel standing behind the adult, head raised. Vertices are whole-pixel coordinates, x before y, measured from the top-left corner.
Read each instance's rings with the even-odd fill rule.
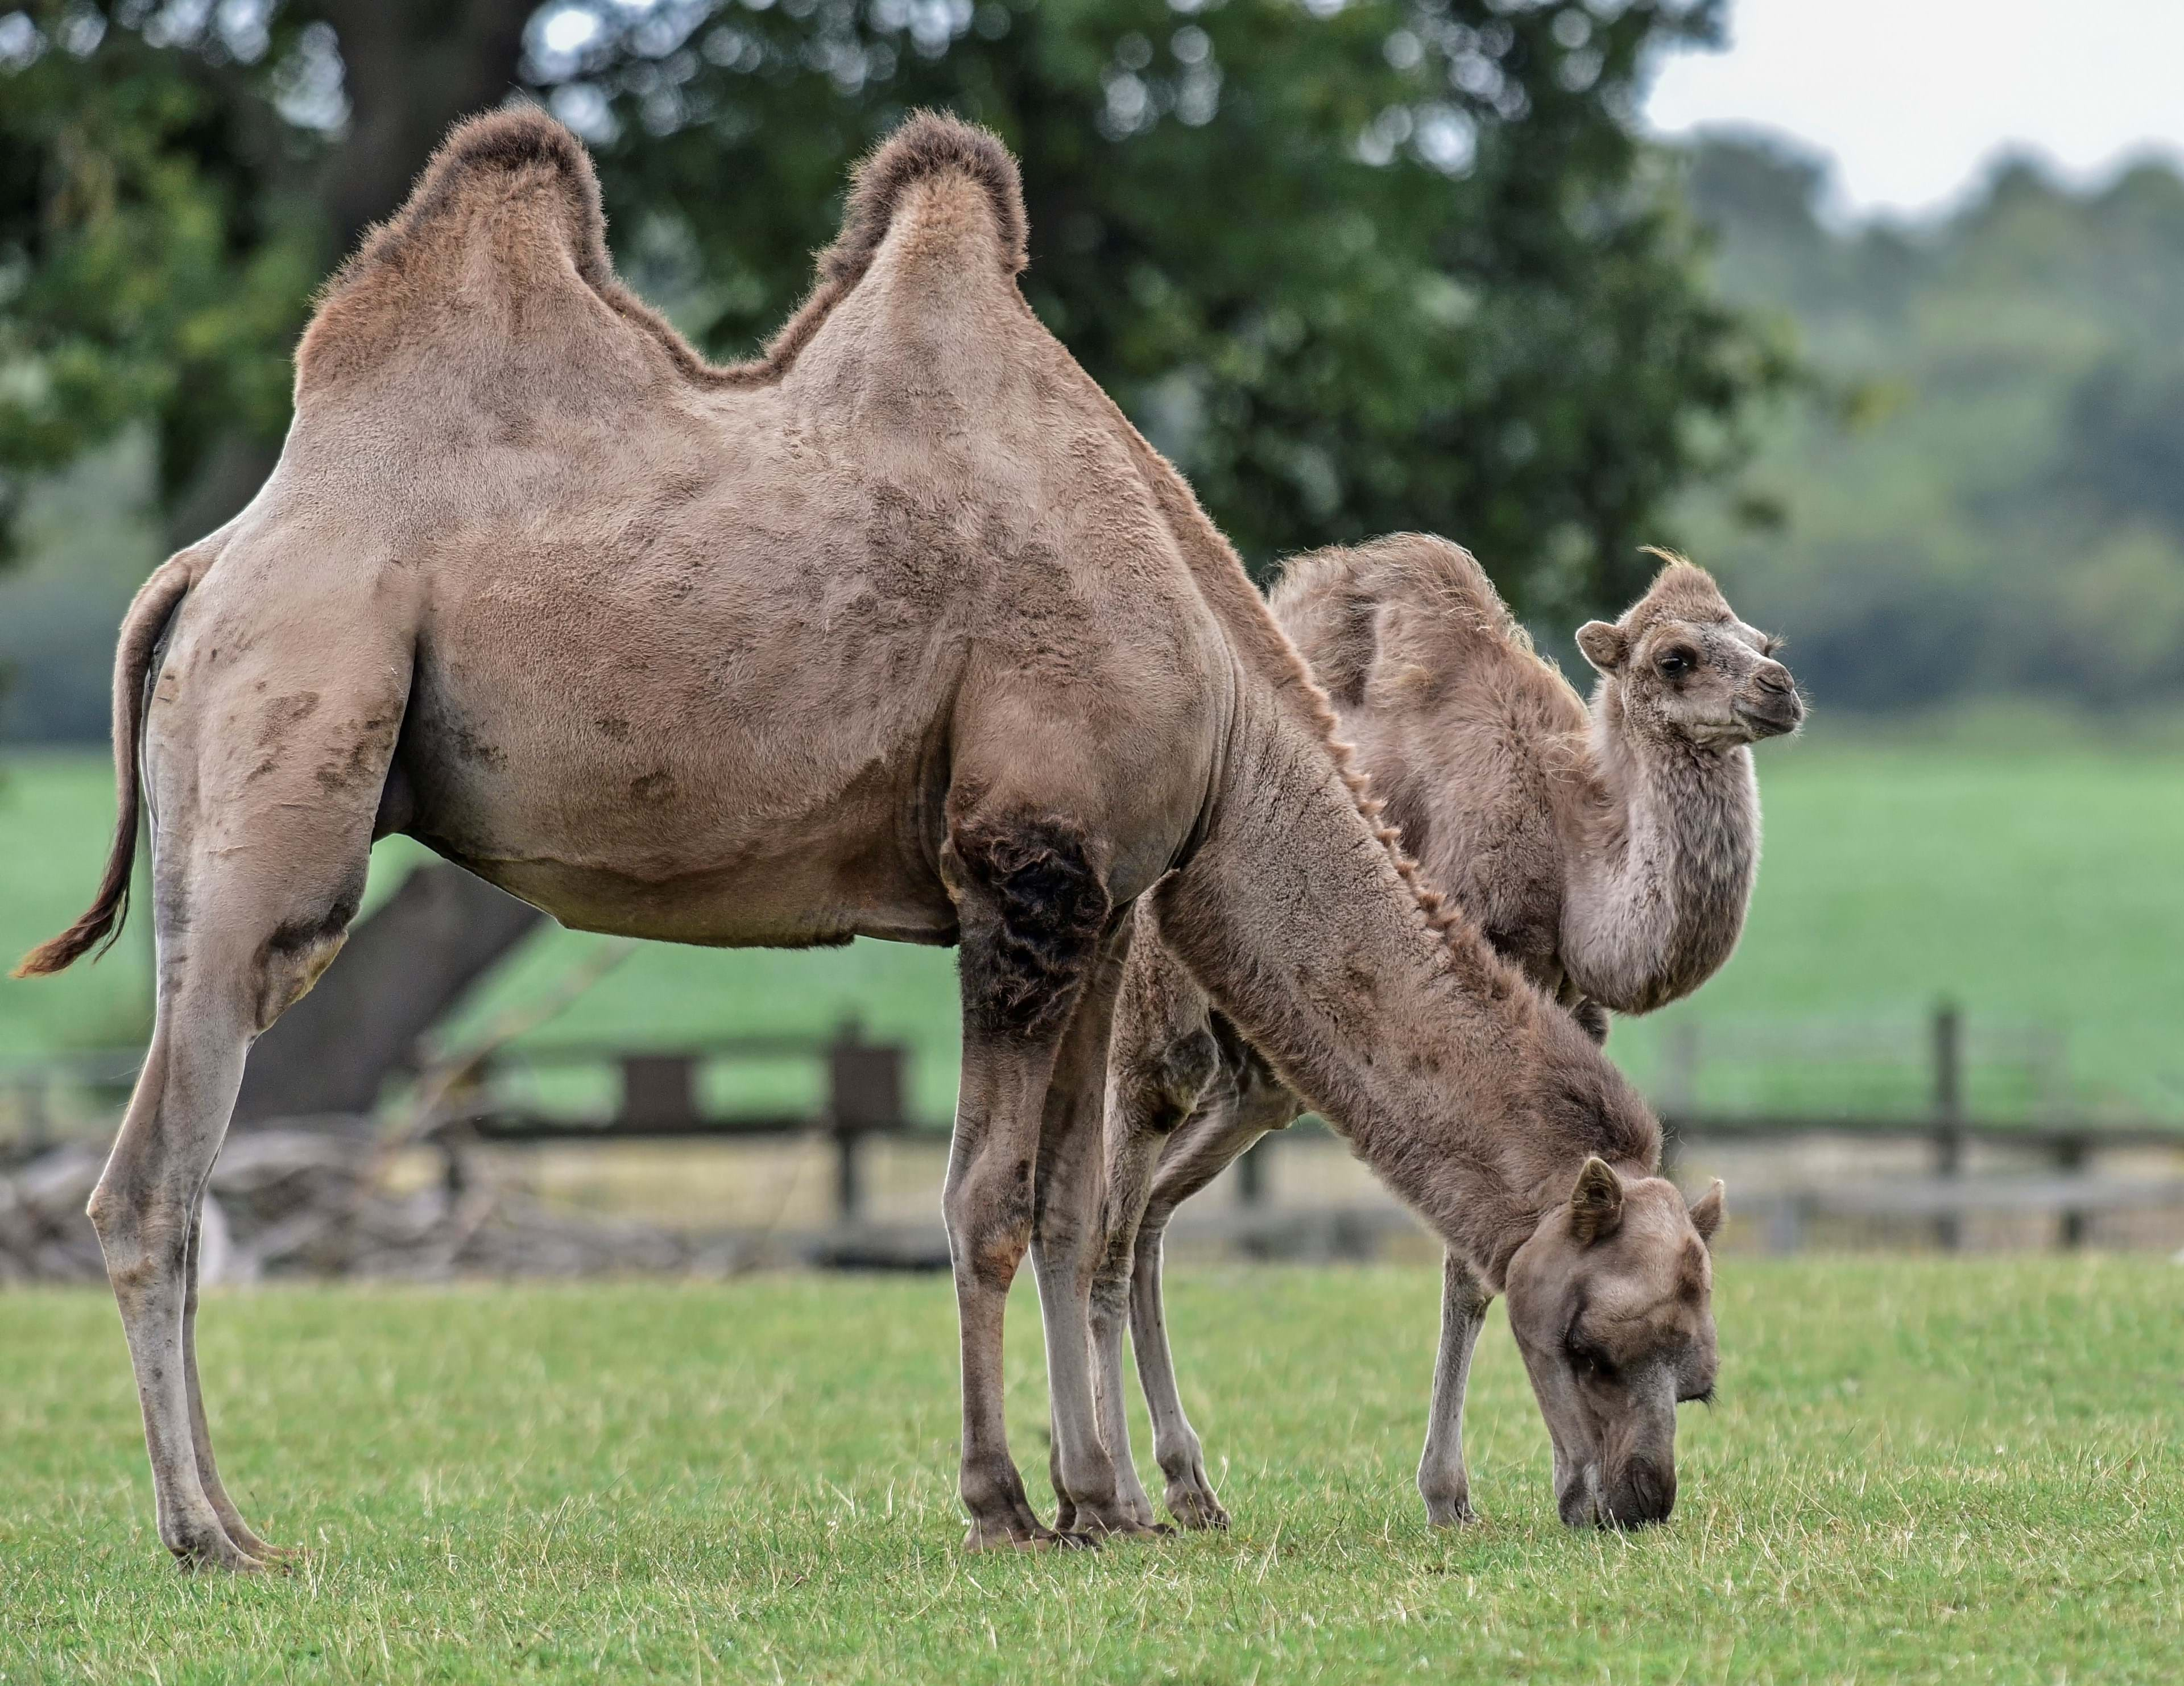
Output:
[[[1603,1009],[1679,1000],[1730,957],[1760,850],[1747,745],[1804,719],[1778,640],[1743,625],[1704,570],[1655,555],[1666,568],[1651,590],[1618,622],[1577,633],[1601,675],[1590,714],[1485,570],[1446,539],[1315,550],[1271,598],[1424,876],[1597,1040]],[[1221,1527],[1168,1354],[1162,1234],[1184,1199],[1304,1103],[1140,930],[1107,1107],[1109,1232],[1092,1297],[1101,1428],[1133,1513],[1151,1520],[1125,1450],[1127,1317],[1168,1511]],[[1719,1221],[1719,1195],[1708,1199],[1701,1230]],[[1437,1524],[1470,1516],[1463,1387],[1489,1280],[1448,1254],[1417,1472]]]

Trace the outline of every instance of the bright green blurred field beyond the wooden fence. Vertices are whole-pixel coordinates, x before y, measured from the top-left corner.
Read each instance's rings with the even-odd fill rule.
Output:
[[[2103,749],[2090,738],[2022,751],[1830,738],[1760,751],[1767,858],[1736,959],[1697,998],[1616,1026],[1610,1050],[1640,1081],[1662,1079],[1673,1026],[1699,1020],[1728,1048],[1778,1024],[1878,1020],[1900,1029],[1889,1072],[1708,1066],[1710,1105],[1863,1103],[1920,1107],[1920,1022],[1937,996],[1970,1024],[2044,1024],[2068,1037],[2066,1103],[2184,1118],[2175,1037],[2184,948],[2184,753]],[[98,756],[17,756],[0,764],[0,946],[20,952],[72,919],[98,876],[111,815]],[[373,880],[415,854],[382,843]],[[601,939],[553,933],[485,992],[476,1013],[550,987]],[[57,1046],[144,1035],[142,930],[96,967],[41,983],[0,981],[0,1061]],[[474,1013],[474,1016],[476,1016]],[[535,1040],[673,1044],[732,1031],[823,1029],[858,1013],[917,1053],[917,1103],[954,1103],[952,959],[856,943],[817,954],[723,954],[646,946]],[[1793,1085],[1863,1085],[1784,1094]],[[1972,1101],[2007,1112],[2035,1099],[1979,1072]]]

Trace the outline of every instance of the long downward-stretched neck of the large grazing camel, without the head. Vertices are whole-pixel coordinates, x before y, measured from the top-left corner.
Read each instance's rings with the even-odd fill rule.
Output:
[[[1428,906],[1334,764],[1245,681],[1162,941],[1358,1155],[1498,1286],[1586,1155],[1651,1175],[1660,1131],[1575,1020]]]

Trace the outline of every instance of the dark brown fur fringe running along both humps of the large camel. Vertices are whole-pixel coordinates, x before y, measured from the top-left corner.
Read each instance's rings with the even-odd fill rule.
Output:
[[[948,173],[968,177],[985,194],[1000,271],[1011,280],[1020,275],[1029,251],[1024,188],[1009,149],[989,131],[946,111],[913,111],[852,168],[841,231],[817,258],[812,290],[767,349],[745,363],[712,363],[614,273],[598,173],[583,142],[535,105],[487,111],[448,131],[402,210],[371,227],[319,288],[312,328],[297,354],[297,373],[301,378],[314,343],[323,341],[321,319],[387,282],[400,286],[422,277],[450,238],[463,238],[463,223],[454,214],[461,203],[494,192],[496,186],[505,199],[513,199],[522,188],[546,179],[559,197],[570,262],[585,286],[653,339],[688,380],[705,387],[767,384],[788,371],[819,323],[871,269],[904,197],[917,183]]]

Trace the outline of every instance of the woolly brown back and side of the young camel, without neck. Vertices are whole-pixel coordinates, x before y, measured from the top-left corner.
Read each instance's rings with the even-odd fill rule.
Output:
[[[1588,714],[1479,561],[1415,533],[1315,550],[1271,607],[1426,880],[1555,985],[1557,815],[1583,788]]]

